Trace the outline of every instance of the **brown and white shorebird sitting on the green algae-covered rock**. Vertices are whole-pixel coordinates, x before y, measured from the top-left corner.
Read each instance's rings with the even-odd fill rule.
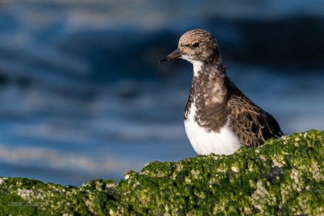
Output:
[[[252,102],[228,77],[216,38],[196,29],[180,37],[161,62],[182,58],[194,66],[185,105],[185,132],[199,155],[231,155],[283,136],[275,117]]]

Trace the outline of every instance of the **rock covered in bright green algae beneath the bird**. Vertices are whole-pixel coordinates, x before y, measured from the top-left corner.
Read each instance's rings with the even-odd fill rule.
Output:
[[[82,187],[0,178],[1,215],[324,215],[324,132],[232,155],[155,161]]]

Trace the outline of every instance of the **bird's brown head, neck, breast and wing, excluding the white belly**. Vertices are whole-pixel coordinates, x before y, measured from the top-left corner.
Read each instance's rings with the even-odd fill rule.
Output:
[[[194,104],[194,121],[199,127],[219,134],[229,124],[239,141],[249,148],[283,135],[275,118],[256,106],[230,80],[213,34],[206,30],[186,32],[180,38],[178,49],[161,62],[173,58],[184,58],[194,65],[185,122]]]

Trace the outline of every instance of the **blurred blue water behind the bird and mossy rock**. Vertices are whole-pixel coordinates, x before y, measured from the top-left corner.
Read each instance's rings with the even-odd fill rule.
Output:
[[[198,27],[216,35],[228,75],[286,134],[323,130],[323,9],[324,1],[1,4],[0,176],[80,186],[195,156],[183,126],[192,65],[158,61]]]

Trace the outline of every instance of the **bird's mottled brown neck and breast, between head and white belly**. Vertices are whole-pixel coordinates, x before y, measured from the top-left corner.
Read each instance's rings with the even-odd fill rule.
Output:
[[[209,128],[209,123],[217,122],[218,128],[222,128],[228,123],[226,108],[229,91],[225,67],[223,64],[193,64],[194,77],[185,106],[185,120],[194,104],[194,120],[199,126]]]

